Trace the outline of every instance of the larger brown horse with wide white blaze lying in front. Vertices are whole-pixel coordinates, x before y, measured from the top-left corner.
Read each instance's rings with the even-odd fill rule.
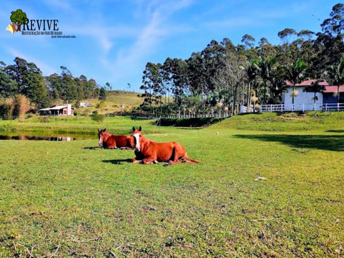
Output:
[[[166,162],[165,166],[180,162],[198,163],[197,160],[187,158],[185,149],[178,142],[154,142],[144,138],[139,129],[132,128],[135,155],[132,160],[134,163],[153,164],[158,162]]]

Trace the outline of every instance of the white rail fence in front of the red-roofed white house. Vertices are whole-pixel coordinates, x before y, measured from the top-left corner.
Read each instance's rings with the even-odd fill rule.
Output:
[[[277,104],[277,105],[261,105],[260,112],[284,112],[284,111],[344,111],[344,104]]]

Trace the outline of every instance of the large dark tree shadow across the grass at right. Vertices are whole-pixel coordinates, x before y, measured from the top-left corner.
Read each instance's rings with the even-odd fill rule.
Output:
[[[234,135],[234,137],[280,142],[294,148],[344,151],[344,135]]]

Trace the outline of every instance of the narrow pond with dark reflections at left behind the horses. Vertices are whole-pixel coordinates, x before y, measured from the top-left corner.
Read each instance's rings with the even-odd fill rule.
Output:
[[[32,132],[2,132],[0,140],[20,141],[75,141],[98,139],[97,135],[74,134],[74,133],[32,133]]]

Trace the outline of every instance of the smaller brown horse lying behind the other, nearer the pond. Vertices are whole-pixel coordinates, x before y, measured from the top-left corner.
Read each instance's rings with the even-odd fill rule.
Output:
[[[103,130],[98,129],[98,139],[99,147],[103,147],[104,149],[134,149],[134,139],[131,135],[112,135],[106,131],[106,128]]]

